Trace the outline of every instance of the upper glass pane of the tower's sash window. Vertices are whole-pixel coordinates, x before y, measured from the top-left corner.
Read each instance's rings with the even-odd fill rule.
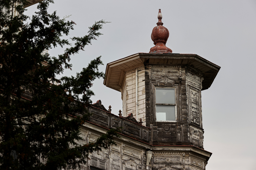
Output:
[[[156,88],[156,103],[175,104],[174,88]]]

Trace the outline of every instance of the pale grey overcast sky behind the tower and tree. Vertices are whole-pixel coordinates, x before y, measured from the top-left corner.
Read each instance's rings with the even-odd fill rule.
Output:
[[[154,46],[152,29],[158,9],[170,36],[166,46],[173,53],[193,53],[221,66],[212,86],[202,91],[204,149],[212,152],[207,170],[255,170],[256,167],[256,1],[255,0],[166,0],[81,1],[55,0],[49,12],[76,23],[72,36],[87,34],[88,27],[104,19],[98,40],[71,59],[75,75],[90,60],[102,55],[105,64],[149,52]],[[32,15],[36,5],[27,8]],[[57,56],[63,49],[49,51]],[[94,82],[93,102],[101,100],[112,113],[122,110],[121,93]]]

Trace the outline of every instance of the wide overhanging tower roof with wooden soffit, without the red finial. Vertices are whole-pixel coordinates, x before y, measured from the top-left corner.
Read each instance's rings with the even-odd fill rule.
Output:
[[[221,68],[197,54],[137,53],[107,64],[103,84],[120,91],[125,77],[125,71],[144,64],[189,66],[202,74],[204,78],[202,90],[208,89],[211,86]]]

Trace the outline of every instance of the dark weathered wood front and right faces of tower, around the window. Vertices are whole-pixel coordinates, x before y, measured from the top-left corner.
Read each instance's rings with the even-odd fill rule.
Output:
[[[176,122],[156,121],[156,87],[175,88]],[[152,144],[203,148],[201,73],[187,66],[145,64],[145,93]]]

